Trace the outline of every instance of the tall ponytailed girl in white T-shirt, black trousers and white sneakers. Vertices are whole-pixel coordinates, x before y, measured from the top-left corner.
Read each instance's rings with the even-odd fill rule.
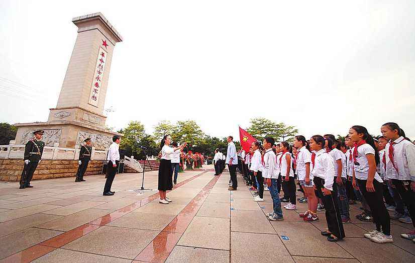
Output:
[[[355,146],[353,154],[353,186],[359,188],[368,203],[376,229],[364,236],[376,243],[393,242],[390,233],[390,217],[383,203],[383,180],[376,172],[379,153],[375,149],[372,136],[363,126],[355,125],[349,130]]]

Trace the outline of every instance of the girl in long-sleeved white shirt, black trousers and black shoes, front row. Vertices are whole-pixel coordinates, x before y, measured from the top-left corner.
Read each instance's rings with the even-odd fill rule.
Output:
[[[327,240],[336,242],[345,237],[342,217],[337,204],[337,193],[333,190],[334,164],[333,158],[327,153],[325,139],[321,135],[314,135],[310,139],[310,148],[316,152],[312,154],[312,167],[314,184],[323,199],[326,208],[327,231],[321,234],[327,236]],[[336,197],[334,197],[334,196]]]

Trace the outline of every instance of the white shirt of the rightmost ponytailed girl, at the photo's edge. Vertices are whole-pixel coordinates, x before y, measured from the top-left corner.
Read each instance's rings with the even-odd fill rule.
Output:
[[[415,145],[402,136],[394,141],[393,161],[389,159],[389,145],[386,144],[386,176],[389,179],[415,181]]]

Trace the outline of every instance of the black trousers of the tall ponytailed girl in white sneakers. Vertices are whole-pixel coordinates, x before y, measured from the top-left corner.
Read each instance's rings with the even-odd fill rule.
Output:
[[[366,190],[367,180],[360,180],[356,178],[359,184],[359,189],[362,192],[367,204],[372,212],[373,222],[376,225],[376,230],[383,232],[385,235],[390,235],[390,217],[383,203],[383,186],[382,183],[373,179],[373,187],[375,192],[368,192]]]

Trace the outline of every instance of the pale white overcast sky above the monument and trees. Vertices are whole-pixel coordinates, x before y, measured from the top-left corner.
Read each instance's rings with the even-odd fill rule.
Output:
[[[265,117],[299,133],[415,139],[415,1],[0,1],[0,122],[46,121],[76,39],[101,12],[123,36],[107,124],[193,119],[238,137]]]

